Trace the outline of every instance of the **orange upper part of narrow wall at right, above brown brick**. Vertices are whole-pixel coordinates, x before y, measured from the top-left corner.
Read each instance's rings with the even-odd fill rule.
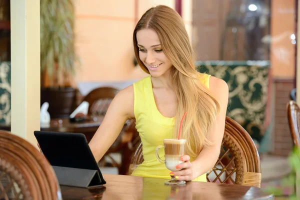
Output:
[[[270,59],[273,77],[292,78],[295,66],[295,0],[272,0]]]

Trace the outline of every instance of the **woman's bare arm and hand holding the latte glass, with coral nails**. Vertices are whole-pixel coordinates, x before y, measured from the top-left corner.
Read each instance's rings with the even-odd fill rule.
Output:
[[[212,142],[212,146],[203,148],[197,158],[192,162],[189,161],[188,155],[182,156],[181,158],[185,162],[178,164],[178,168],[186,169],[174,172],[175,176],[180,175],[178,179],[192,180],[199,175],[206,173],[214,166],[219,156],[225,128],[225,117],[228,104],[228,85],[222,79],[211,76],[209,78],[209,89],[220,102],[220,112],[216,116],[216,121],[211,126],[209,133],[209,140]]]

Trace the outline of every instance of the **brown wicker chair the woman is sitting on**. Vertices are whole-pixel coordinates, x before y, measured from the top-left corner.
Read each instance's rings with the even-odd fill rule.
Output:
[[[127,174],[130,175],[142,161],[140,142],[131,157]],[[212,176],[214,178],[211,178]],[[219,158],[214,167],[206,173],[206,178],[208,182],[231,182],[260,187],[260,160],[255,144],[245,129],[227,116]]]

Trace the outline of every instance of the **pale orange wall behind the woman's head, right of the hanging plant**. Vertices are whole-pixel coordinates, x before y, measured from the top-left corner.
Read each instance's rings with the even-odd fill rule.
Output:
[[[81,59],[76,81],[140,79],[147,74],[133,65],[132,32],[151,6],[175,7],[175,0],[75,0],[76,50]],[[137,5],[137,7],[136,7]],[[191,0],[182,15],[191,32]],[[137,11],[137,12],[136,12]]]

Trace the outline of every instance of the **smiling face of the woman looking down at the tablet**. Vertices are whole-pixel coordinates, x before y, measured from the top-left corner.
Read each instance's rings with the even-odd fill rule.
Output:
[[[136,32],[139,59],[153,77],[165,75],[172,67],[171,61],[165,56],[156,32],[152,29],[141,29]]]

